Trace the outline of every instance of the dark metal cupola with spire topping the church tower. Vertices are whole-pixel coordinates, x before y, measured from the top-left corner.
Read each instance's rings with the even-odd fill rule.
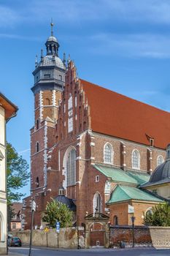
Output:
[[[39,91],[57,90],[63,91],[65,85],[66,61],[60,59],[58,55],[59,43],[53,34],[53,23],[51,34],[45,42],[47,53],[44,56],[41,50],[41,58],[38,61],[36,56],[34,75],[34,86],[31,90],[34,94]]]

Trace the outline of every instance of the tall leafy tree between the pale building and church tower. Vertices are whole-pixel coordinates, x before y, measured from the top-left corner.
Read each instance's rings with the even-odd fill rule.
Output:
[[[7,143],[7,196],[8,204],[20,200],[24,194],[18,189],[28,183],[28,163],[20,156],[10,143]]]

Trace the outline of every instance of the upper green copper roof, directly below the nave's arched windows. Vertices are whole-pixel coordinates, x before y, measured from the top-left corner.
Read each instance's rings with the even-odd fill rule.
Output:
[[[150,175],[147,173],[142,173],[139,171],[133,171],[133,170],[121,170],[114,167],[107,167],[104,165],[93,165],[97,170],[99,170],[101,173],[104,174],[104,176],[107,176],[109,178],[112,178],[112,181],[115,182],[125,182],[125,183],[131,183],[131,184],[143,184],[144,182],[149,181]]]

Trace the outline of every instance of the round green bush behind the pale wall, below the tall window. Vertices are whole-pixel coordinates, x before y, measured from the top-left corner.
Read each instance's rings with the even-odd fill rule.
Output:
[[[60,222],[61,227],[72,227],[72,211],[64,203],[51,199],[51,202],[47,203],[42,220],[47,222],[49,227],[55,227],[56,220]]]

